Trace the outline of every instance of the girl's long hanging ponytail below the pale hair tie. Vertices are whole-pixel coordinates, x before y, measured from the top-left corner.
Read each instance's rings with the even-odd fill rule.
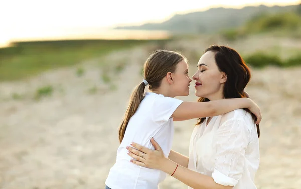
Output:
[[[119,142],[121,143],[125,134],[125,130],[127,127],[127,124],[130,120],[130,118],[135,114],[137,111],[141,101],[143,100],[144,96],[144,90],[145,90],[145,83],[142,82],[140,85],[138,85],[133,93],[131,94],[130,100],[129,100],[129,105],[128,108],[125,112],[124,119],[121,123],[121,125],[118,128],[118,135],[119,135]]]

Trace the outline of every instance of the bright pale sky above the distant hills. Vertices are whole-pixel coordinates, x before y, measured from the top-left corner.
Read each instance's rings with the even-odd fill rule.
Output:
[[[177,2],[177,3],[175,3]],[[226,2],[226,3],[225,3]],[[241,8],[247,5],[291,5],[300,0],[2,0],[0,43],[26,35],[50,35],[66,28],[110,28],[162,22],[174,14],[211,7]]]

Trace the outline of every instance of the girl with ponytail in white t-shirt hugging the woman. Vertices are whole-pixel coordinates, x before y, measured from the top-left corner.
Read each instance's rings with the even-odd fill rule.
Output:
[[[248,98],[221,99],[212,102],[183,102],[176,96],[187,96],[191,79],[186,58],[173,51],[158,50],[147,59],[144,77],[131,95],[124,120],[119,127],[120,146],[116,163],[110,169],[106,187],[157,188],[166,174],[160,170],[139,167],[130,162],[126,147],[131,142],[151,148],[150,138],[161,145],[163,156],[171,150],[173,119],[187,120],[216,116],[234,109],[250,108],[261,119],[258,106]],[[144,96],[145,86],[152,92]]]

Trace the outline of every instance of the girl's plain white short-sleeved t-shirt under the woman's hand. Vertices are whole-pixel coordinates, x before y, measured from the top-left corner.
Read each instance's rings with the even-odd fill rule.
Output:
[[[146,92],[136,113],[127,125],[124,138],[117,150],[116,163],[110,169],[105,184],[112,189],[157,189],[166,173],[135,165],[128,154],[131,142],[153,149],[153,137],[168,157],[174,137],[174,124],[171,117],[182,100]]]

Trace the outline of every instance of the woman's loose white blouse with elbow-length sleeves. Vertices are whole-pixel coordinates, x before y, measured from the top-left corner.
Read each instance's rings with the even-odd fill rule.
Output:
[[[213,117],[206,126],[207,120],[192,133],[188,168],[224,186],[256,188],[259,140],[251,115],[238,109]]]

